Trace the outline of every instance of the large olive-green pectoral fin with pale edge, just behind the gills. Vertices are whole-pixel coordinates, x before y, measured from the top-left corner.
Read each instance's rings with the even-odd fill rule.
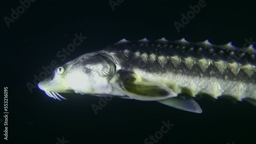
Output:
[[[158,101],[177,97],[172,89],[143,80],[130,71],[117,71],[111,83],[116,89],[136,100]]]

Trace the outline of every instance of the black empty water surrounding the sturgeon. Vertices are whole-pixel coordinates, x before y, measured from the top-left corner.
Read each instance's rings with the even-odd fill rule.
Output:
[[[10,18],[11,9],[21,4],[2,2],[1,76],[2,88],[7,86],[9,90],[9,140],[3,139],[1,122],[0,143],[55,144],[62,138],[69,144],[144,143],[167,121],[174,126],[157,143],[256,143],[256,107],[246,102],[203,99],[198,101],[203,113],[195,114],[157,102],[115,98],[95,114],[91,105],[99,105],[98,97],[63,94],[68,100],[57,101],[38,88],[30,92],[26,85],[33,84],[33,75],[38,76],[44,71],[42,66],[53,60],[64,64],[122,38],[185,37],[193,42],[209,39],[214,44],[232,41],[240,47],[246,44],[245,39],[256,41],[253,1],[207,0],[206,6],[178,32],[174,22],[181,23],[181,14],[186,15],[189,6],[198,2],[124,0],[113,11],[109,1],[36,0],[9,28],[4,17]],[[74,34],[80,33],[87,39],[61,61],[57,52],[73,43]]]

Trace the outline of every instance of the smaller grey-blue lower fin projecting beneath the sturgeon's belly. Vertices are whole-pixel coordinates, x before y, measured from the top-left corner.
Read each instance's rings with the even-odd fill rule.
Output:
[[[193,98],[175,97],[166,100],[158,101],[164,105],[174,107],[180,110],[189,112],[202,113],[202,109],[199,104]]]

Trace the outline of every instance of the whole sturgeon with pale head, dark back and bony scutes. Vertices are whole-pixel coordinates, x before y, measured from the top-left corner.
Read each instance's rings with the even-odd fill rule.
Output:
[[[195,113],[202,113],[196,96],[204,94],[256,106],[255,58],[253,45],[122,39],[55,68],[38,87],[58,100],[65,99],[59,93],[80,93],[157,101]]]

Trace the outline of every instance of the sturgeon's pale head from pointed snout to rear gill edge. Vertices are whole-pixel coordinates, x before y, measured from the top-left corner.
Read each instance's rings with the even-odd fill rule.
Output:
[[[115,64],[104,56],[83,55],[55,68],[49,78],[38,83],[38,87],[49,97],[55,97],[58,92],[108,94],[112,90],[108,81],[115,74],[115,68]]]

